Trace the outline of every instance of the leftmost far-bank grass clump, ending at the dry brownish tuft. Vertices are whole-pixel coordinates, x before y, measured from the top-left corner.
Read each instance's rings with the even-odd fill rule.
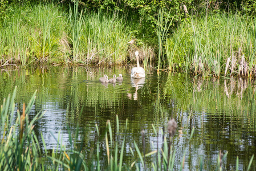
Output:
[[[13,17],[1,25],[0,51],[3,59],[22,66],[39,61],[55,62],[64,54],[62,39],[66,36],[67,18],[52,3],[14,5]]]

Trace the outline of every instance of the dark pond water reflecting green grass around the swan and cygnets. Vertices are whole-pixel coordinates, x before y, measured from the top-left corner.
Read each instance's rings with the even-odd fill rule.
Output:
[[[227,153],[224,170],[235,170],[237,156],[239,170],[246,170],[251,156],[256,154],[256,107],[255,81],[242,79],[200,79],[185,74],[161,72],[157,75],[152,67],[147,68],[145,79],[130,77],[130,66],[116,68],[45,67],[29,70],[2,71],[0,76],[0,102],[18,86],[17,108],[28,103],[37,89],[36,101],[30,117],[45,112],[35,125],[35,133],[42,132],[46,148],[56,148],[58,134],[63,144],[71,146],[78,131],[78,142],[82,144],[85,156],[96,150],[97,133],[104,135],[107,120],[113,133],[119,118],[120,133],[114,135],[122,143],[126,135],[124,162],[131,165],[135,159],[129,147],[133,140],[141,144],[141,129],[145,130],[146,153],[156,149],[156,142],[162,144],[167,123],[174,118],[178,128],[173,139],[176,149],[174,168],[180,168],[184,152],[184,170],[198,170],[200,161],[204,170],[215,169],[220,150]],[[99,78],[123,74],[123,82],[102,84]],[[22,111],[22,110],[21,110]],[[127,132],[124,133],[128,119]],[[153,132],[152,124],[159,130],[159,138]],[[188,143],[194,127],[194,135]],[[164,131],[162,132],[161,129]],[[82,141],[82,137],[85,137]],[[40,145],[43,143],[40,139]],[[107,164],[104,138],[101,148],[101,164]],[[141,148],[142,149],[142,148]],[[156,156],[147,157],[149,162]],[[251,170],[255,170],[254,157]]]

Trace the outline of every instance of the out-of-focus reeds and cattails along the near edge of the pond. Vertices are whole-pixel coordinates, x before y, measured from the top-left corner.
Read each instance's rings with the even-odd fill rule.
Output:
[[[70,145],[68,147],[62,144],[62,137],[59,133],[58,137],[54,137],[58,144],[56,149],[47,150],[42,133],[43,148],[40,148],[41,145],[38,141],[40,137],[36,137],[33,129],[36,121],[43,117],[43,113],[38,112],[35,117],[29,117],[35,102],[36,91],[27,105],[23,103],[21,112],[19,110],[16,112],[15,109],[16,93],[17,87],[15,87],[13,95],[9,94],[1,105],[1,170],[147,170],[149,167],[153,170],[182,170],[184,168],[186,150],[183,152],[181,163],[175,164],[178,168],[174,168],[176,149],[173,146],[173,137],[177,128],[177,123],[174,119],[168,122],[166,133],[164,133],[164,130],[152,125],[153,136],[161,139],[161,143],[157,143],[156,150],[152,152],[145,152],[146,142],[145,131],[143,130],[141,131],[142,145],[133,140],[133,145],[127,151],[125,140],[128,139],[126,135],[128,120],[126,120],[124,127],[120,127],[118,116],[116,116],[116,121],[112,121],[116,128],[107,120],[104,135],[100,135],[99,127],[97,124],[95,125],[95,145],[92,145],[91,155],[89,156],[84,155],[82,146],[79,146],[79,142],[83,144],[83,141],[86,140],[84,140],[84,137],[78,136],[78,129],[76,129],[75,135],[71,135],[69,131]],[[159,135],[160,131],[162,132],[162,137]],[[193,141],[193,133],[194,128],[188,137],[187,144],[184,144],[184,146],[189,146],[190,141]],[[101,156],[103,152],[106,152],[107,155]],[[126,163],[123,161],[124,154],[127,153],[131,153],[133,162]],[[147,157],[149,156],[154,156],[156,160],[148,162]],[[207,167],[210,170],[225,169],[226,156],[227,152],[223,153],[220,150],[216,164],[208,163]],[[253,158],[254,155],[250,158],[247,170],[250,170]],[[104,160],[104,162],[101,160]],[[198,168],[203,170],[205,166],[202,164],[202,158],[200,161]],[[239,159],[237,157],[235,170],[238,169]]]

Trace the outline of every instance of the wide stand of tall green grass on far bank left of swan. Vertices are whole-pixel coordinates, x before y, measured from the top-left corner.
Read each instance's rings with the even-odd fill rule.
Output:
[[[11,18],[0,25],[2,64],[121,64],[127,60],[129,25],[117,14],[66,13],[53,3],[13,5]]]

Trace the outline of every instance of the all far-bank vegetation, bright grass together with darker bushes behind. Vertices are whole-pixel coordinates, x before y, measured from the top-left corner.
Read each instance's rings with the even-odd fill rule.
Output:
[[[1,2],[0,68],[118,66],[134,63],[139,50],[144,67],[157,71],[256,78],[254,1],[148,2],[149,9],[131,1],[126,10],[107,0],[94,9],[83,1],[11,2]]]

